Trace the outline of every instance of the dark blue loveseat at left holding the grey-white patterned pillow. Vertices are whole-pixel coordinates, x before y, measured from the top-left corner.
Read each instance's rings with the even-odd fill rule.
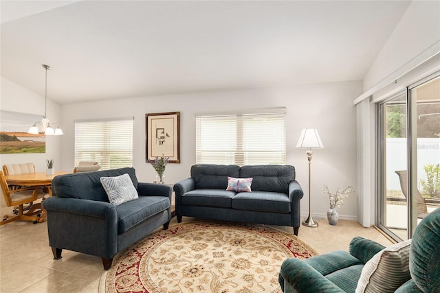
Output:
[[[129,174],[139,198],[110,204],[100,177]],[[52,197],[45,199],[47,232],[54,259],[63,249],[102,258],[104,270],[113,257],[171,219],[173,188],[137,182],[135,169],[74,173],[54,177]]]

